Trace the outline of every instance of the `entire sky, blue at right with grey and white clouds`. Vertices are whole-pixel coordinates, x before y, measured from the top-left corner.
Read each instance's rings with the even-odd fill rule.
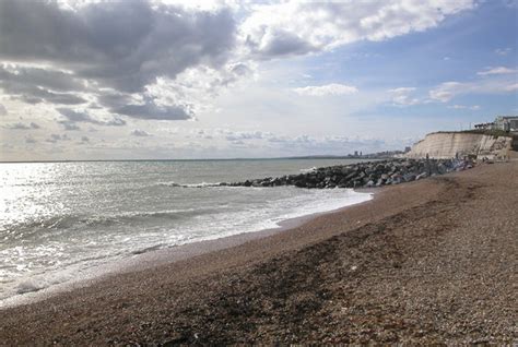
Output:
[[[0,160],[403,149],[518,115],[517,0],[0,1]]]

